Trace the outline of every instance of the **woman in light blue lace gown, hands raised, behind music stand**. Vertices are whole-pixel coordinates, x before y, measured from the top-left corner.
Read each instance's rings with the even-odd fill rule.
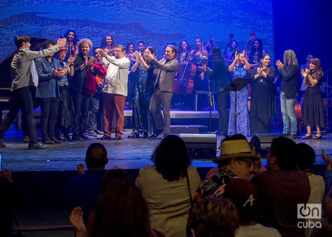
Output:
[[[245,51],[242,53],[240,51],[234,50],[232,52],[234,61],[228,67],[228,71],[231,73],[232,79],[235,78],[246,78],[247,71],[250,70],[250,65],[245,57]],[[229,110],[229,122],[228,122],[228,135],[234,134],[235,131],[235,92],[231,91],[230,96],[230,110]],[[249,113],[248,113],[248,87],[245,86],[242,90],[237,91],[237,104],[236,112],[240,114],[237,115],[237,125],[236,133],[243,134],[244,136],[249,136],[250,125],[249,125]]]

